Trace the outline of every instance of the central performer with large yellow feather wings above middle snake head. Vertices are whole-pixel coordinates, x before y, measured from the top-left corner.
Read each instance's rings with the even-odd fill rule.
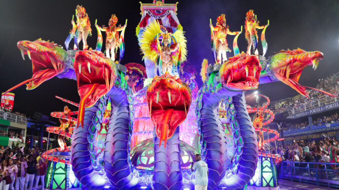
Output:
[[[171,75],[178,74],[180,71],[175,67],[186,60],[186,39],[183,31],[178,29],[174,33],[168,33],[156,20],[149,23],[142,32],[140,48],[145,58],[153,62],[159,60],[160,63],[161,61],[160,75],[166,71]],[[173,65],[175,66],[174,70],[172,70]],[[157,66],[159,67],[159,65]]]

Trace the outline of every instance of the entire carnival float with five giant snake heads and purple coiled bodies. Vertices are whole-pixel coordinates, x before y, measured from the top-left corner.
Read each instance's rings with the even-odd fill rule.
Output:
[[[229,31],[226,15],[221,14],[215,26],[210,23],[213,61],[202,61],[203,84],[198,87],[194,73],[183,68],[186,38],[176,17],[177,4],[154,0],[140,3],[140,10],[136,36],[144,66],[123,62],[128,26],[127,20],[116,25],[115,14],[108,26],[99,26],[95,20],[97,43],[88,48],[91,24],[80,5],[65,49],[42,39],[17,42],[22,58],[27,55],[31,60],[33,74],[6,92],[23,84],[32,90],[57,77],[75,80],[80,96],[79,103],[57,97],[78,110],[71,112],[65,107],[63,112],[51,113],[61,125],[47,131],[59,135],[60,147],[43,154],[50,161],[45,188],[193,189],[190,163],[195,154],[201,154],[208,165],[208,190],[236,190],[247,184],[277,187],[274,165],[281,158],[263,148],[264,143],[279,137],[276,131],[262,128],[274,118],[267,109],[269,99],[262,96],[266,105],[249,107],[244,93],[259,84],[281,81],[308,97],[306,88],[313,88],[298,84],[298,80],[306,66],[316,69],[322,53],[288,49],[266,59],[269,21],[260,26],[253,10],[246,13],[243,27],[248,47],[246,53],[240,52],[237,38],[242,26],[240,31]],[[261,55],[257,29],[262,29]],[[105,53],[101,52],[101,31],[106,34]],[[229,58],[225,56],[231,51],[227,34],[235,35],[234,56]],[[68,50],[72,40],[73,49]],[[253,121],[249,113],[256,113]],[[266,115],[270,115],[267,120]],[[263,132],[273,137],[267,135],[265,140]],[[69,147],[65,137],[71,140]]]

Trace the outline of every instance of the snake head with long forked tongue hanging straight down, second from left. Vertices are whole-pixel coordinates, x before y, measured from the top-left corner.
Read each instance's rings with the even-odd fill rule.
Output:
[[[84,107],[91,107],[114,85],[116,64],[101,51],[77,51],[74,58],[77,91],[80,96],[78,124],[83,127]]]

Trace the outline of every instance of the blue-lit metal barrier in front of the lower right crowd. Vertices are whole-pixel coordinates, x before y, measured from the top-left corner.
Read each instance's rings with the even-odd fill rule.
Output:
[[[339,188],[339,167],[336,163],[290,162],[282,161],[280,178],[317,186]]]

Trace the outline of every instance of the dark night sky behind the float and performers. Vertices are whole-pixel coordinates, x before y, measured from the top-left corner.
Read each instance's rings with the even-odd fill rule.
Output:
[[[2,0],[0,2],[0,92],[31,77],[31,61],[27,56],[25,61],[22,60],[16,42],[42,38],[64,46],[64,40],[71,29],[70,20],[75,14],[76,4],[82,4],[89,15],[93,35],[87,38],[87,42],[92,48],[95,48],[97,37],[95,18],[98,19],[99,25],[108,25],[112,13],[116,14],[119,19],[118,24],[121,25],[127,18],[126,50],[122,64],[128,62],[143,64],[135,36],[135,27],[141,18],[138,1]],[[150,2],[152,0],[143,1],[143,3]],[[165,3],[175,2],[175,0],[165,0]],[[316,71],[313,71],[311,66],[303,70],[300,84],[314,87],[319,78],[339,72],[337,60],[339,1],[337,0],[181,0],[177,7],[177,17],[186,32],[187,62],[194,65],[197,73],[200,72],[203,58],[212,62],[209,18],[212,18],[212,23],[215,25],[216,17],[225,13],[230,30],[237,31],[244,24],[248,9],[254,9],[260,25],[265,25],[267,19],[270,21],[266,29],[268,44],[266,57],[280,49],[297,47],[306,51],[323,52],[324,59],[319,62]],[[261,34],[261,30],[258,34]],[[230,48],[232,48],[233,37],[227,36]],[[70,46],[72,47],[72,43]],[[238,38],[238,46],[240,51],[246,50],[244,32]],[[258,47],[261,51],[261,44]],[[227,57],[231,56],[232,53],[227,53]],[[201,85],[200,77],[196,80]],[[259,85],[258,90],[271,101],[297,95],[297,92],[281,82]],[[54,98],[54,95],[75,102],[79,101],[76,81],[56,77],[42,83],[34,90],[27,91],[25,86],[21,86],[13,93],[15,93],[13,110],[27,116],[32,116],[34,112],[49,116],[52,111],[62,111],[65,103]],[[73,106],[70,108],[75,110]]]

